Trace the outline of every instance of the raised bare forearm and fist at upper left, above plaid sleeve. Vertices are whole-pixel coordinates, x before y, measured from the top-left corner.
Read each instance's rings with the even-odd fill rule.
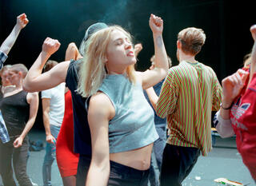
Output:
[[[14,26],[14,29],[11,31],[10,35],[6,38],[6,40],[2,43],[2,46],[0,47],[0,50],[3,53],[6,53],[7,55],[10,52],[10,49],[12,48],[12,46],[14,46],[14,43],[18,38],[18,34],[28,22],[29,20],[26,18],[26,14],[20,14],[17,17],[17,23]]]

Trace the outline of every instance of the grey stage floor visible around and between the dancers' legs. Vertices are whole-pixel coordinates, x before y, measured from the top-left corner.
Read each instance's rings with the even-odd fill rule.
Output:
[[[44,131],[33,130],[29,134],[31,140],[45,141]],[[34,183],[42,185],[42,161],[45,151],[30,152],[27,172]],[[242,164],[234,137],[228,139],[215,138],[214,148],[208,156],[200,156],[190,175],[183,181],[183,186],[217,186],[214,179],[225,177],[229,180],[254,186],[254,180],[246,166]],[[56,161],[52,166],[52,184],[61,186],[62,179]],[[0,185],[2,181],[0,179]]]

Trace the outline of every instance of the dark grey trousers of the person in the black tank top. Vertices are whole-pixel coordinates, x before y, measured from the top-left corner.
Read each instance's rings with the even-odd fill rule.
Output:
[[[5,186],[15,186],[13,177],[14,173],[18,184],[22,186],[32,186],[29,176],[26,174],[26,163],[28,158],[29,142],[28,137],[25,137],[22,146],[14,148],[14,140],[16,137],[10,138],[10,141],[6,144],[0,142],[0,175],[2,176],[2,182]]]

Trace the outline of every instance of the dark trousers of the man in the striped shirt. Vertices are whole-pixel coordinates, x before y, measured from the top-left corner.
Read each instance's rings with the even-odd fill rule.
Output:
[[[198,148],[166,144],[162,156],[161,186],[181,186],[200,156]]]

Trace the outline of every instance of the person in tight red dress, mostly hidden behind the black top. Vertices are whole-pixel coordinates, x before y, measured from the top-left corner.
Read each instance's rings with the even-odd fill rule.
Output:
[[[66,49],[65,61],[78,60],[82,56],[74,42]],[[74,122],[71,92],[66,88],[65,113],[56,144],[56,160],[64,186],[74,186],[78,170],[79,154],[74,153]]]

